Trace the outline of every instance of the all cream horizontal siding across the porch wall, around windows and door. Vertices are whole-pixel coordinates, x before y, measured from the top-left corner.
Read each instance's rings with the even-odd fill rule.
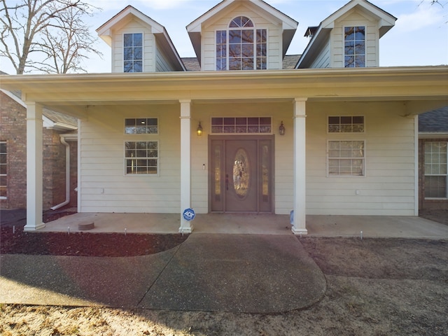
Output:
[[[191,107],[191,205],[209,210],[208,136],[213,116],[270,116],[275,141],[274,211],[293,209],[293,105],[193,104]],[[402,104],[307,102],[307,214],[414,215],[414,120]],[[179,213],[180,106],[91,106],[80,127],[80,211]],[[365,134],[327,134],[328,116],[364,116]],[[125,118],[159,118],[159,135],[124,134]],[[283,120],[286,134],[279,136]],[[201,121],[202,137],[194,131]],[[158,140],[159,176],[126,176],[124,142]],[[328,177],[329,139],[365,141],[364,177]],[[204,167],[205,165],[205,167]],[[204,169],[205,168],[205,169]],[[356,191],[358,190],[358,195]]]

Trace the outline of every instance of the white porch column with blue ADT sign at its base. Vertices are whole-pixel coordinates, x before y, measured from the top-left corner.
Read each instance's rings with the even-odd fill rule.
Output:
[[[191,233],[193,225],[183,218],[183,211],[191,207],[191,100],[181,103],[181,227],[179,232]]]

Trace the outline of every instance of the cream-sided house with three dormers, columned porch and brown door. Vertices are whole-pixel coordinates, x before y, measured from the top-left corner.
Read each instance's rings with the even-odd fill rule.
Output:
[[[300,3],[297,3],[300,6]],[[317,9],[316,9],[317,10]],[[225,0],[186,26],[199,71],[166,29],[128,6],[97,29],[111,73],[9,76],[25,92],[41,228],[43,106],[79,118],[78,211],[417,216],[418,115],[447,104],[447,66],[379,66],[395,18],[352,0],[306,29],[261,0]],[[194,64],[188,60],[188,64]],[[193,60],[194,61],[194,60]]]

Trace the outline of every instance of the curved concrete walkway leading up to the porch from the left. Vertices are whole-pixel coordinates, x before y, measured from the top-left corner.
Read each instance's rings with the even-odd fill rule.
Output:
[[[1,255],[0,302],[279,313],[325,293],[293,235],[193,234],[155,255]]]

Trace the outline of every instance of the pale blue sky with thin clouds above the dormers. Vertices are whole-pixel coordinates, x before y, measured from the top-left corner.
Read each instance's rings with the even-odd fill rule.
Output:
[[[195,57],[186,26],[213,8],[220,0],[85,0],[102,8],[86,20],[95,29],[127,5],[132,5],[167,29],[181,57]],[[287,55],[302,54],[308,38],[304,32],[348,3],[348,0],[265,0],[269,5],[293,18],[299,25]],[[430,0],[370,0],[375,6],[398,18],[379,40],[380,66],[426,66],[448,64],[448,0],[430,4]],[[99,39],[96,48],[103,58],[92,56],[85,62],[89,73],[111,71],[111,48]],[[15,73],[7,59],[1,69]]]

